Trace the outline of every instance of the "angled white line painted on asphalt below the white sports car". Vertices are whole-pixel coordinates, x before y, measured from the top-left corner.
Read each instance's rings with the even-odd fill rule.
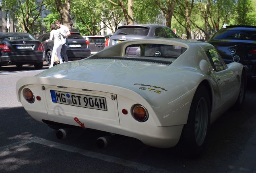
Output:
[[[158,169],[156,167],[151,167],[149,165],[145,165],[145,164],[141,164],[141,163],[137,163],[137,162],[133,162],[133,161],[128,161],[128,160],[125,160],[125,159],[120,159],[118,157],[113,157],[113,156],[109,156],[109,155],[105,155],[105,154],[101,154],[101,153],[96,153],[96,152],[93,152],[93,151],[80,149],[80,148],[72,147],[72,146],[69,146],[69,145],[56,143],[56,142],[53,142],[53,141],[48,141],[46,139],[42,139],[42,138],[39,138],[39,137],[32,137],[32,138],[27,139],[27,140],[22,140],[22,141],[19,141],[19,142],[16,142],[16,143],[12,143],[10,145],[6,145],[4,147],[0,147],[0,154],[2,152],[5,152],[5,151],[11,150],[11,149],[22,147],[23,145],[27,145],[29,143],[38,143],[38,144],[41,144],[41,145],[45,145],[45,146],[48,146],[48,147],[53,147],[53,148],[56,148],[56,149],[61,149],[61,150],[64,150],[64,151],[79,153],[79,154],[87,156],[87,157],[91,157],[91,158],[95,158],[95,159],[99,159],[99,160],[103,160],[103,161],[123,165],[125,167],[136,168],[140,171],[161,172],[161,173],[167,172],[166,170]]]

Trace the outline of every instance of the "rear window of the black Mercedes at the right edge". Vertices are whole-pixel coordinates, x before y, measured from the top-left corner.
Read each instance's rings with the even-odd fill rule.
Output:
[[[223,30],[216,32],[212,39],[227,40],[256,40],[256,31],[252,30]]]

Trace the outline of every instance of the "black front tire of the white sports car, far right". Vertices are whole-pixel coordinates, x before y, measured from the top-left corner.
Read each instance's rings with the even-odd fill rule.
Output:
[[[245,75],[245,72],[243,71],[241,76],[239,95],[237,97],[235,104],[233,105],[234,109],[236,110],[242,109],[244,105],[245,93],[246,93],[246,75]]]

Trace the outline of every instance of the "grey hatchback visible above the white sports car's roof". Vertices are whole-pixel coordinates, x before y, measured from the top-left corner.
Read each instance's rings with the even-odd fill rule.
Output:
[[[171,28],[162,25],[124,25],[105,42],[105,48],[124,40],[139,38],[180,38]]]

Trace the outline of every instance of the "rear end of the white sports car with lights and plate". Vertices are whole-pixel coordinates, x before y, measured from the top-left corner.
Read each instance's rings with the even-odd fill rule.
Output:
[[[16,87],[29,115],[48,125],[97,129],[163,148],[176,145],[182,131],[183,125],[159,127],[150,104],[125,88],[44,77],[26,77]]]

